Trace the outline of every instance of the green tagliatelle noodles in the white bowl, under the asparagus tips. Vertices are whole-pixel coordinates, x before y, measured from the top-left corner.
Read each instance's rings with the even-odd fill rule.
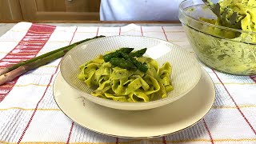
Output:
[[[118,50],[110,54],[117,52]],[[170,82],[170,63],[165,62],[160,67],[158,62],[152,58],[142,55],[133,57],[134,53],[130,52],[126,54],[142,64],[144,68],[146,67],[146,70],[143,72],[143,69],[134,69],[138,66],[137,64],[127,69],[123,66],[115,66],[112,60],[106,62],[106,57],[109,55],[105,57],[99,55],[79,67],[78,79],[85,82],[87,86],[96,86],[97,89],[92,92],[92,95],[100,98],[121,102],[149,102],[157,98],[166,98],[166,93],[173,90]],[[115,56],[121,58],[122,61],[130,60],[126,57],[122,58],[122,54]],[[133,61],[130,62],[133,63]]]

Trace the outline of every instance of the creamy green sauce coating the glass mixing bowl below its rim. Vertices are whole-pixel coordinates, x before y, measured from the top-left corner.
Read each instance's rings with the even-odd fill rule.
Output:
[[[183,26],[198,58],[216,70],[229,74],[256,74],[256,46],[217,38]]]

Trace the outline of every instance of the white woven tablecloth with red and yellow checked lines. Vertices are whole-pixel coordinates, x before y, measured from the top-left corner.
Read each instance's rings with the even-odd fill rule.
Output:
[[[0,38],[5,67],[96,35],[140,35],[173,42],[194,53],[182,26],[48,26],[19,22]],[[222,74],[200,64],[213,79],[216,99],[196,125],[162,138],[125,139],[78,126],[59,110],[55,60],[0,86],[0,143],[256,143],[256,76]]]

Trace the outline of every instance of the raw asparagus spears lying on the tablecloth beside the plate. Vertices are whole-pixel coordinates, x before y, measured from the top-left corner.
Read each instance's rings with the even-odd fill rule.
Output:
[[[0,70],[0,85],[10,82],[14,78],[17,78],[18,76],[25,74],[26,72],[30,70],[34,70],[35,68],[38,68],[39,66],[46,65],[49,62],[54,61],[55,59],[61,58],[63,55],[65,55],[69,50],[74,48],[74,46],[78,46],[82,42],[89,41],[91,39],[95,38],[102,38],[105,36],[96,36],[94,38],[86,38],[82,41],[75,42],[69,46],[64,46],[58,50],[50,51],[46,54],[42,54],[38,57],[31,58],[30,60],[19,62],[18,64],[15,64],[13,66],[8,66],[2,70]]]

